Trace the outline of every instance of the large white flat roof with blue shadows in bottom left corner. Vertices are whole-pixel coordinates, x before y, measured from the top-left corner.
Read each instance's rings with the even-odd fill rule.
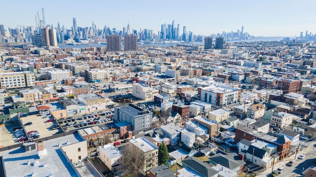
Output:
[[[1,151],[0,156],[3,156],[6,175],[8,177],[31,177],[34,173],[37,177],[79,177],[58,147],[59,143],[65,146],[67,141],[73,144],[84,140],[75,133],[43,141],[47,154],[41,158],[39,158],[37,150],[25,152],[23,147]]]

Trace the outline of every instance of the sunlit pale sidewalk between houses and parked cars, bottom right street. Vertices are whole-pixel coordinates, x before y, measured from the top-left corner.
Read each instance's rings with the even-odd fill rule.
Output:
[[[298,157],[300,154],[308,153],[308,152],[309,152],[310,150],[312,150],[312,149],[313,149],[313,146],[310,145],[310,146],[308,146],[306,149],[303,148],[302,151],[298,151],[298,152],[297,152],[297,155],[296,155],[296,159],[297,159],[297,157]],[[279,168],[279,167],[285,167],[285,166],[286,166],[285,164],[287,164],[287,163],[288,163],[289,161],[291,161],[291,160],[294,160],[294,157],[295,157],[295,153],[294,153],[293,155],[289,156],[289,157],[284,158],[284,159],[281,160],[281,161],[276,162],[275,165],[274,165],[273,170],[276,170],[276,169]],[[296,164],[296,165],[297,165],[297,164]],[[257,175],[256,177],[267,177],[269,174],[271,174],[271,172],[272,172],[272,166],[271,166],[270,168],[267,168],[264,172],[262,172],[260,175]],[[280,174],[280,175],[281,175],[281,174]]]

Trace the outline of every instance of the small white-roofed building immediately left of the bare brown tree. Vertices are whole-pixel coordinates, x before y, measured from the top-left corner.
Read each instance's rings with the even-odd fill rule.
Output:
[[[112,144],[107,144],[100,148],[99,159],[108,169],[116,173],[121,169],[121,164],[123,163],[122,155],[118,148],[115,148]]]

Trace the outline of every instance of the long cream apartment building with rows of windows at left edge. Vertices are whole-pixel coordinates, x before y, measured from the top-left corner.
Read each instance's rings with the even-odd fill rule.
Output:
[[[0,89],[15,89],[35,86],[31,71],[0,73]]]

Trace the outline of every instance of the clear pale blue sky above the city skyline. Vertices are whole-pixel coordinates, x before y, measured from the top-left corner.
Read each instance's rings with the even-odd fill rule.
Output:
[[[104,25],[122,29],[154,29],[175,20],[194,34],[222,31],[255,36],[299,36],[316,33],[316,0],[0,0],[0,24],[5,29],[17,25],[35,26],[35,15],[45,8],[46,24],[67,29],[76,17],[78,27]]]

